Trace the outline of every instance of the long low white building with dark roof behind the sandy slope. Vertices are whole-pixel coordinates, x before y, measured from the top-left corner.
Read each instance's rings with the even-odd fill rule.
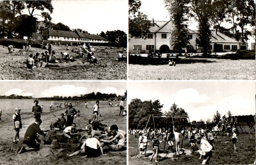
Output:
[[[79,31],[75,29],[73,32],[63,31],[63,30],[54,30],[46,29],[42,32],[43,38],[45,40],[54,40],[54,41],[70,41],[70,42],[100,42],[108,43],[109,41],[103,38],[100,35],[83,33],[82,30]]]

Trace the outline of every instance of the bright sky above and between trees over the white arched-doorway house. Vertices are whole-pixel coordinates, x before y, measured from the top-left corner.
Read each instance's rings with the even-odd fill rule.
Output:
[[[156,3],[155,0],[140,0],[140,2],[141,2],[140,11],[146,14],[149,20],[152,20],[153,18],[155,21],[170,20],[168,10],[165,8],[164,0],[157,0],[158,3]],[[197,25],[198,25],[197,22],[195,22],[195,20],[191,18],[191,20],[189,21],[188,28],[191,30],[197,30],[197,27],[196,27]],[[231,24],[226,22],[221,23],[221,26],[226,28],[232,27]],[[247,30],[252,29],[250,26],[246,26],[246,28]],[[249,39],[250,40],[247,41],[248,43],[255,42],[252,37],[249,37]],[[251,44],[248,44],[248,46],[251,47]]]

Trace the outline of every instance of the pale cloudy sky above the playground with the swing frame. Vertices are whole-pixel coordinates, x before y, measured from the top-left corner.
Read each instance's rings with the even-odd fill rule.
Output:
[[[245,81],[185,81],[185,82],[129,82],[128,101],[131,99],[160,100],[163,112],[173,103],[185,109],[190,121],[213,119],[228,110],[234,116],[255,115],[255,82]]]

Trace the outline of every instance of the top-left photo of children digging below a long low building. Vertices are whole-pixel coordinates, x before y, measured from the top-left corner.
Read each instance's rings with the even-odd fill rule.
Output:
[[[0,79],[127,79],[127,0],[0,2]]]

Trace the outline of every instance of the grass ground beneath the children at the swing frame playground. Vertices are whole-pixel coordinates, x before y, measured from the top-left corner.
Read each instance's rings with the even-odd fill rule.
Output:
[[[180,138],[182,141],[182,139]],[[161,138],[160,138],[161,141]],[[234,153],[234,146],[232,141],[227,138],[218,138],[214,140],[216,150],[209,161],[209,164],[252,164],[255,161],[255,135],[240,134],[237,136],[237,153]],[[129,136],[129,164],[202,164],[202,159],[199,160],[199,153],[192,152],[191,155],[182,154],[180,158],[174,156],[173,158],[160,157],[159,162],[150,162],[151,154],[146,157],[136,157],[138,146],[138,139],[134,136]],[[168,144],[166,144],[166,147]],[[160,143],[160,153],[163,152],[164,143]],[[175,153],[175,146],[173,147]],[[184,140],[183,148],[189,149],[189,140]],[[147,146],[147,152],[152,151],[153,143],[150,142]],[[154,159],[153,159],[154,160]]]

